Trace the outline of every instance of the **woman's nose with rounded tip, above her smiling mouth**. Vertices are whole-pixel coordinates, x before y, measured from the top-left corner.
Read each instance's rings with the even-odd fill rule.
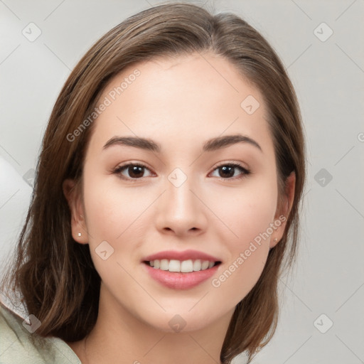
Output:
[[[161,233],[178,237],[200,235],[206,230],[208,208],[203,203],[198,186],[192,178],[187,178],[181,186],[171,181],[166,181],[166,190],[158,201],[156,228]]]

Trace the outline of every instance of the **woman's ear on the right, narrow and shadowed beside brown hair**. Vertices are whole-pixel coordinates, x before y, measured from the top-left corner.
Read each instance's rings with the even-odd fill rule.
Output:
[[[276,215],[274,216],[274,226],[279,224],[275,224],[276,221],[280,222],[280,225],[274,230],[271,240],[269,243],[269,247],[275,247],[279,240],[282,239],[284,230],[286,230],[287,220],[289,213],[291,212],[291,208],[294,200],[294,188],[296,186],[296,173],[291,172],[291,174],[287,177],[283,200],[278,199]],[[277,239],[277,240],[276,240]],[[274,241],[275,240],[275,241]]]

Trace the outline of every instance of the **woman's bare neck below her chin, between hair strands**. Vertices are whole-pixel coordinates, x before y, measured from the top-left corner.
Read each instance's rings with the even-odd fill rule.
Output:
[[[101,290],[95,327],[81,341],[68,343],[82,364],[221,363],[220,351],[233,310],[208,327],[166,332],[141,321],[121,305],[104,302]]]

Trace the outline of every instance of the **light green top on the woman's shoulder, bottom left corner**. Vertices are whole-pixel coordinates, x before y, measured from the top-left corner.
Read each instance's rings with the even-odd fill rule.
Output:
[[[82,364],[65,341],[37,335],[36,319],[26,323],[0,303],[0,364]]]

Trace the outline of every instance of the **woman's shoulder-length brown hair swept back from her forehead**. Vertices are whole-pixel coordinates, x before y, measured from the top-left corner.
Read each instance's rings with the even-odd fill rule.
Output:
[[[39,335],[78,341],[97,319],[100,276],[88,245],[73,240],[62,188],[66,178],[80,186],[93,124],[73,142],[67,136],[92,113],[112,77],[128,65],[194,52],[220,55],[262,93],[269,110],[279,196],[284,196],[287,176],[292,171],[296,174],[294,201],[282,240],[269,251],[255,287],[237,304],[220,360],[228,364],[245,350],[251,360],[272,338],[278,318],[278,279],[283,267],[291,267],[296,258],[306,174],[299,105],[277,54],[252,26],[234,14],[212,15],[199,6],[180,3],[154,6],[112,28],[75,66],[55,102],[14,267],[9,267],[1,286],[21,292],[28,313],[42,323]]]

